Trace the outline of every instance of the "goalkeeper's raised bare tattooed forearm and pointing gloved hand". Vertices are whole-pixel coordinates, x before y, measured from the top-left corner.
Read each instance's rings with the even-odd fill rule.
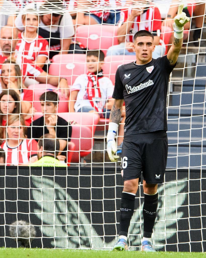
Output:
[[[174,18],[174,38],[172,42],[172,46],[170,47],[168,53],[167,53],[167,59],[169,60],[171,65],[174,65],[177,62],[177,58],[179,56],[179,52],[182,48],[183,43],[183,30],[184,25],[188,21],[190,21],[190,18],[186,16],[183,10],[183,4],[179,5],[177,16]]]

